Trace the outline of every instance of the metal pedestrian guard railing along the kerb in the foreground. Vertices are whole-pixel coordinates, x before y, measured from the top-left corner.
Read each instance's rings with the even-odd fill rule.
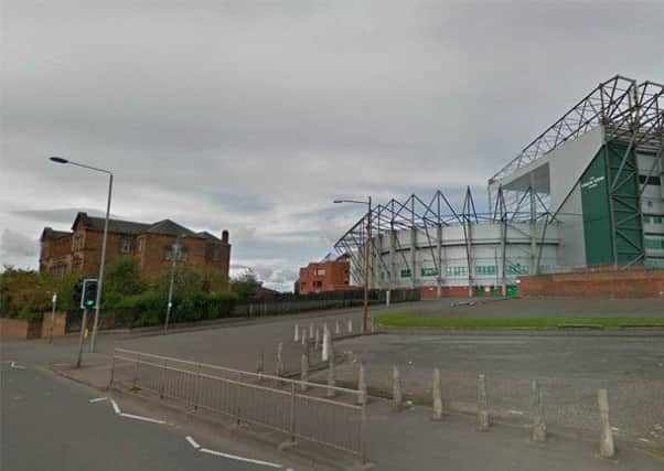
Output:
[[[116,349],[111,387],[144,390],[196,413],[287,433],[366,462],[366,404],[361,390],[288,379]],[[323,397],[334,395],[334,399]],[[343,400],[345,399],[345,400]]]

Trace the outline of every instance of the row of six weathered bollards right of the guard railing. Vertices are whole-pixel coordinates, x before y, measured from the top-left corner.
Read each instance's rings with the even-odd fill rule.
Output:
[[[364,365],[361,364],[361,377],[364,381]],[[366,383],[358,385],[361,390],[366,392]],[[401,375],[397,365],[392,370],[392,405],[398,411],[404,405],[401,389]],[[442,381],[439,368],[433,368],[432,378],[432,413],[431,420],[440,421],[443,416]],[[600,447],[599,456],[612,458],[615,454],[613,433],[609,422],[609,398],[607,389],[598,389],[598,406],[600,413]],[[546,422],[544,419],[544,395],[539,383],[534,379],[531,383],[531,440],[544,442],[547,438]],[[483,374],[478,376],[478,430],[488,431],[490,428],[489,407],[486,396],[486,378]]]

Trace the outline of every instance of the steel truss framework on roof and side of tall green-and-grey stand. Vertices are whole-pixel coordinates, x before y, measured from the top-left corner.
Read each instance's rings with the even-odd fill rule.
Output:
[[[565,142],[602,127],[603,158],[609,182],[609,206],[613,243],[613,264],[630,266],[645,258],[644,240],[634,242],[633,227],[642,227],[641,195],[645,183],[638,183],[636,197],[629,191],[639,178],[636,151],[654,152],[655,159],[647,178],[662,161],[664,149],[664,86],[654,82],[636,81],[617,75],[602,82],[583,99],[577,103],[560,119],[526,146],[521,153],[489,180],[489,199],[492,190],[517,170],[535,162]],[[611,143],[621,142],[624,149],[617,154]],[[611,165],[611,162],[619,162]],[[638,181],[638,180],[636,180]],[[646,180],[647,181],[647,180]],[[500,189],[500,184],[499,184]],[[510,191],[505,195],[507,207],[518,208],[526,192]],[[548,212],[548,194],[537,199]],[[641,231],[643,238],[643,231]],[[621,261],[624,260],[624,261]]]

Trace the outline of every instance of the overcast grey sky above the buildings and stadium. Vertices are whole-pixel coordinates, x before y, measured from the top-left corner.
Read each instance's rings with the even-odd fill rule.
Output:
[[[486,180],[600,81],[664,82],[664,2],[2,1],[0,265],[100,212],[291,289],[377,202]]]

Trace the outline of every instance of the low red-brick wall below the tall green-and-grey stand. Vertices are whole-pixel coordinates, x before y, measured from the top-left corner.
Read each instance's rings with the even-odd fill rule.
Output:
[[[520,278],[522,297],[664,298],[664,270],[595,268]]]

